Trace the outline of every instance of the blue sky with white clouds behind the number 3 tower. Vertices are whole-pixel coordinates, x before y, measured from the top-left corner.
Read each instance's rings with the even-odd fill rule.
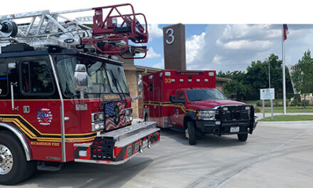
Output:
[[[162,28],[149,25],[147,58],[136,65],[164,68]],[[270,53],[282,58],[282,24],[186,24],[188,70],[244,71],[252,61],[264,61]],[[313,25],[288,24],[286,65],[302,58],[313,46]]]

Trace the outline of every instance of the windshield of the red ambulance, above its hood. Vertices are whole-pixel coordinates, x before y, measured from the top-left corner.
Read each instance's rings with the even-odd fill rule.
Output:
[[[186,90],[189,101],[196,100],[227,100],[226,96],[221,91],[216,89],[211,90]]]

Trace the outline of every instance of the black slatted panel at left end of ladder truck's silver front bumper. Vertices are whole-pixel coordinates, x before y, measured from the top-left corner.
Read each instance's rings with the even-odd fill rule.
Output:
[[[90,146],[92,160],[113,160],[114,140],[108,137],[95,137]]]

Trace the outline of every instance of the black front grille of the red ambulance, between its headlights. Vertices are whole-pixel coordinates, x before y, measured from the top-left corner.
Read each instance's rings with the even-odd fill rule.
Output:
[[[245,110],[245,106],[228,106],[228,110],[221,110],[221,120],[223,122],[250,120],[250,110]]]

